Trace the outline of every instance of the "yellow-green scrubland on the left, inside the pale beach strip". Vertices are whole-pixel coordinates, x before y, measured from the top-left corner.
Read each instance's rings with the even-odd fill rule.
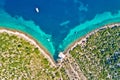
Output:
[[[59,72],[24,38],[0,33],[0,80],[58,80]]]

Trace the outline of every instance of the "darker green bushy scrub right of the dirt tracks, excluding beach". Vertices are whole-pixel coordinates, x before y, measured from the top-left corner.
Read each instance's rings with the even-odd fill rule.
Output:
[[[120,26],[99,29],[69,53],[88,80],[119,80]]]

